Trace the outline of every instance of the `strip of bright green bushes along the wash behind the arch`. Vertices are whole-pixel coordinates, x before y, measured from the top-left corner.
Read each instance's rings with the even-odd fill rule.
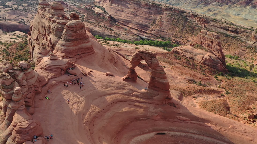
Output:
[[[169,47],[173,47],[173,46],[178,46],[177,44],[171,44],[171,41],[152,41],[152,40],[140,40],[140,41],[129,41],[129,40],[123,40],[121,38],[108,38],[108,37],[100,37],[99,35],[95,36],[97,39],[103,39],[106,41],[118,41],[121,43],[127,43],[127,44],[135,44],[135,45],[149,45],[149,46],[159,46],[159,47],[163,47],[163,46],[169,46]],[[166,49],[165,49],[166,50]]]

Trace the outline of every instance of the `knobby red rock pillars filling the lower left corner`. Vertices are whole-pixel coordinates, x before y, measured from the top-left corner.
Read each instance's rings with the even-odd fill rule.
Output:
[[[0,103],[0,143],[21,144],[32,141],[34,135],[40,136],[40,122],[33,120],[27,112],[24,101],[27,98],[18,87],[19,84],[8,73],[1,73],[0,85],[0,93],[3,96]]]

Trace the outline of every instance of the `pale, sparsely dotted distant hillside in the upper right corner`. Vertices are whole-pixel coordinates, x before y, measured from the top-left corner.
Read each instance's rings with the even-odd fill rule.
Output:
[[[257,28],[256,0],[154,0],[189,10],[217,19],[225,19],[235,24]]]

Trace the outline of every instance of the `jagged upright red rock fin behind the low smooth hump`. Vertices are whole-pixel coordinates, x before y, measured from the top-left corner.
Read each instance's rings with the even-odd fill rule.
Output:
[[[198,33],[195,43],[200,44],[206,49],[210,50],[214,55],[216,55],[222,62],[222,64],[226,67],[226,58],[224,53],[222,52],[221,42],[219,41],[220,36],[215,32],[208,32],[206,30],[202,30]]]

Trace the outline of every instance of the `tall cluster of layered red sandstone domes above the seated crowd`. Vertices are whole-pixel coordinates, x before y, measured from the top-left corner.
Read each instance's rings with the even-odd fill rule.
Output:
[[[49,51],[60,58],[75,59],[94,53],[78,14],[71,13],[67,20],[59,2],[51,5],[45,0],[39,2],[35,19],[30,22],[28,40],[31,59],[36,66]]]

